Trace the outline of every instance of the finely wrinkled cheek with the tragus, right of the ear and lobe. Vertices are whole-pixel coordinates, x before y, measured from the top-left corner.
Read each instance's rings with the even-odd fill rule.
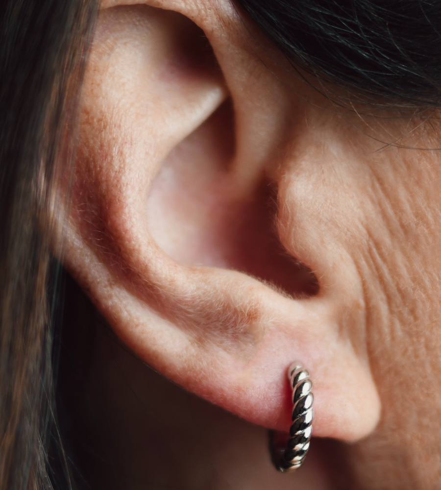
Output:
[[[319,294],[335,300],[339,328],[368,359],[382,420],[353,452],[372,470],[362,481],[383,470],[389,481],[391,454],[403,457],[410,438],[413,447],[436,447],[440,437],[428,421],[441,415],[441,162],[436,152],[356,151],[354,138],[336,147],[335,133],[333,146],[320,136],[298,147],[284,172],[280,236],[323,271]],[[424,458],[412,457],[411,466],[433,473],[433,457]]]

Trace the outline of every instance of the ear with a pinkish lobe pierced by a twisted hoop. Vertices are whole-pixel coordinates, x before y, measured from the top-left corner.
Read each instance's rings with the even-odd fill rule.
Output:
[[[299,360],[315,435],[363,437],[378,396],[360,336],[341,328],[363,331],[359,296],[347,288],[340,308],[318,242],[294,233],[281,155],[300,99],[232,7],[155,5],[100,13],[64,263],[121,339],[186,389],[287,430]]]

